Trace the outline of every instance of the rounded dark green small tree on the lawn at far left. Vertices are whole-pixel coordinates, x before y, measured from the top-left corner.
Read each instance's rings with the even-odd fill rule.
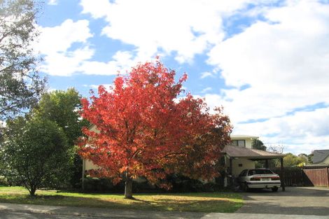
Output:
[[[12,120],[8,127],[13,132],[5,136],[2,161],[15,171],[30,195],[41,187],[63,185],[69,175],[71,151],[62,128],[37,117]]]

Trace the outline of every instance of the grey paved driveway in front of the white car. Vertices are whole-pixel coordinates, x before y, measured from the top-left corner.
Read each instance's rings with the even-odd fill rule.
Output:
[[[328,188],[288,187],[286,192],[258,190],[243,195],[245,204],[237,213],[329,216]]]

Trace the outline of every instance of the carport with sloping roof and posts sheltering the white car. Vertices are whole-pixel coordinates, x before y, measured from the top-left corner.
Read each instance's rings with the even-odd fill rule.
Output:
[[[225,163],[228,167],[228,174],[233,175],[233,162],[235,160],[265,160],[265,167],[268,168],[268,160],[279,159],[281,164],[281,188],[282,191],[285,191],[284,183],[284,168],[283,168],[283,157],[285,155],[279,153],[272,153],[264,150],[256,150],[252,148],[244,148],[239,146],[225,146],[223,149],[223,154],[225,155]],[[239,167],[242,167],[243,164],[239,164]],[[237,168],[237,167],[236,167]],[[248,169],[248,168],[245,168]]]

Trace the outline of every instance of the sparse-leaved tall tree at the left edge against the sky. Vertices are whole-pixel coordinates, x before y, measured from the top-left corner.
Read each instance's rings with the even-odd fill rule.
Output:
[[[27,112],[45,90],[31,45],[38,36],[38,8],[33,0],[0,1],[0,125]]]

